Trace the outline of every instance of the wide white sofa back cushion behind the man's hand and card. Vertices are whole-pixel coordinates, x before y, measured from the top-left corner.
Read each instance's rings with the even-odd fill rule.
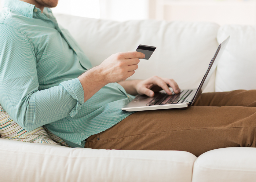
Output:
[[[111,54],[135,51],[139,44],[156,46],[149,60],[141,60],[129,79],[157,75],[173,78],[181,89],[197,88],[216,52],[219,25],[208,22],[110,20],[55,15],[69,30],[93,66]],[[214,80],[208,91],[214,91]]]

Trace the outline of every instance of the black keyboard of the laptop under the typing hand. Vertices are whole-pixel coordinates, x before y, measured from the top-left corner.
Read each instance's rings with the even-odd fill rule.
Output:
[[[160,94],[156,99],[147,105],[179,104],[182,103],[193,90],[182,90],[179,94]]]

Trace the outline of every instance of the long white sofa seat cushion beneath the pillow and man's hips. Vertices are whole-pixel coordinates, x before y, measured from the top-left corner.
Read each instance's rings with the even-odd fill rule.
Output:
[[[183,151],[67,148],[0,138],[1,180],[191,181],[197,159]]]

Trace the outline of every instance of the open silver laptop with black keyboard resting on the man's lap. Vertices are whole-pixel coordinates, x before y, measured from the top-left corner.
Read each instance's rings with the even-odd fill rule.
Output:
[[[165,91],[155,93],[154,97],[146,95],[136,95],[130,103],[126,104],[121,110],[123,111],[148,111],[158,109],[186,109],[195,103],[197,98],[207,86],[209,79],[215,71],[219,60],[228,44],[229,37],[223,41],[217,48],[211,62],[207,68],[198,89],[181,90],[179,94],[168,95]]]

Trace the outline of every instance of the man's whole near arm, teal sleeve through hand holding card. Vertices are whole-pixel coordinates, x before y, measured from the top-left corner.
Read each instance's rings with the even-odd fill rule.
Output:
[[[114,60],[105,60],[79,78],[38,90],[33,45],[8,25],[0,24],[0,34],[0,103],[13,120],[28,131],[67,116],[74,117],[82,104],[105,84],[134,74],[139,62],[138,58],[129,57],[136,57],[137,53],[118,53],[112,56]],[[144,55],[139,53],[138,57]]]

